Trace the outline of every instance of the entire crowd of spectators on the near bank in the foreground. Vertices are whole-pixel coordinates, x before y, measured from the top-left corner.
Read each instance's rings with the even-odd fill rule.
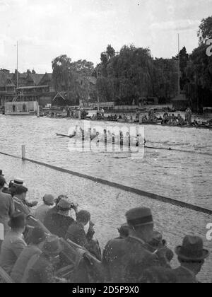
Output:
[[[174,253],[155,231],[151,209],[127,211],[117,238],[101,250],[88,211],[79,211],[63,194],[45,194],[40,206],[29,202],[27,194],[23,180],[7,185],[0,170],[0,267],[13,282],[199,282],[197,275],[209,255],[202,238],[185,236]],[[73,261],[69,249],[75,252]],[[177,269],[172,264],[175,254]]]

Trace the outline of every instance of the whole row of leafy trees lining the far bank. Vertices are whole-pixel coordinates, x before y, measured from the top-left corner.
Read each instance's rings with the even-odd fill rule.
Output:
[[[207,40],[212,39],[212,17],[201,21],[198,37],[199,46],[192,54],[183,47],[171,59],[154,59],[149,48],[134,45],[124,45],[119,52],[108,45],[95,67],[92,62],[71,62],[62,55],[52,61],[54,86],[57,91],[66,91],[72,104],[97,101],[98,95],[100,102],[115,101],[118,105],[139,104],[148,97],[169,103],[178,93],[180,66],[180,91],[192,110],[201,112],[204,105],[211,106],[212,57],[206,50]],[[96,78],[95,86],[90,77]]]

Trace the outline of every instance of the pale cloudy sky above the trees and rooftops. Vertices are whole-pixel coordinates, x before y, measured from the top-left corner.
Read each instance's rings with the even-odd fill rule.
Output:
[[[153,57],[192,52],[202,18],[212,0],[0,0],[0,67],[51,71],[60,54],[95,64],[108,44],[150,47]]]

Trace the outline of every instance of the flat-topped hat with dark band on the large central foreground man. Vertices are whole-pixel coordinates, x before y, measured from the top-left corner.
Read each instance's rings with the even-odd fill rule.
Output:
[[[138,207],[126,212],[126,221],[129,226],[146,226],[153,224],[153,215],[151,209]]]

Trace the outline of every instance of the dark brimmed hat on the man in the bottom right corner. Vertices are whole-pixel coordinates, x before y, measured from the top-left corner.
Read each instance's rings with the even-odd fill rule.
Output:
[[[185,261],[201,261],[209,255],[209,251],[204,249],[203,240],[198,236],[190,235],[184,238],[182,246],[178,246],[175,252]]]

